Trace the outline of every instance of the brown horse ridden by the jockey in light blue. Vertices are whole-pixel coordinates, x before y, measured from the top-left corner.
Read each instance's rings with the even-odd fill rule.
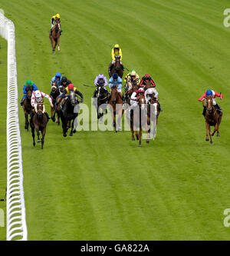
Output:
[[[109,105],[110,105],[110,112],[113,118],[113,128],[115,128],[115,131],[117,132],[117,124],[116,124],[116,114],[118,114],[118,131],[121,131],[121,118],[123,116],[123,100],[120,97],[120,94],[117,91],[118,85],[112,85],[111,91],[110,91],[110,99],[109,99]],[[117,106],[117,108],[116,108]]]

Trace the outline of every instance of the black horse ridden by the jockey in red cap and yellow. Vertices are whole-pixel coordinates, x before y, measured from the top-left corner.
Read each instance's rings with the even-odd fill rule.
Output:
[[[77,95],[74,91],[71,91],[70,95],[67,96],[64,105],[61,107],[61,122],[63,136],[67,136],[67,130],[71,127],[70,136],[73,136],[73,133],[76,132],[77,123],[74,125],[74,122],[77,121],[77,115],[80,111],[79,101],[77,100]],[[71,125],[72,121],[72,125]]]

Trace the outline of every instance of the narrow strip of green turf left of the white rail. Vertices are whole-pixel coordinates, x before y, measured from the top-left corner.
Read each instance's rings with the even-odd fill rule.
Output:
[[[0,37],[0,199],[5,198],[6,187],[6,102],[7,102],[7,42]],[[5,201],[0,201],[5,213]],[[0,210],[1,211],[1,210]],[[5,214],[4,214],[5,215]],[[1,221],[0,221],[1,222]],[[5,240],[5,227],[0,226],[0,241]]]

